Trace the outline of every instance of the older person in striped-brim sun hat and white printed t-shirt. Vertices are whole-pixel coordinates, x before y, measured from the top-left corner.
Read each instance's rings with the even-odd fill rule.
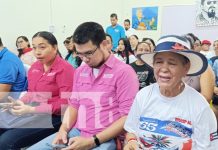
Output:
[[[218,147],[215,115],[205,98],[182,81],[200,74],[207,59],[190,50],[183,37],[160,38],[154,53],[141,56],[153,66],[157,83],[140,90],[124,128],[124,150],[215,150]]]

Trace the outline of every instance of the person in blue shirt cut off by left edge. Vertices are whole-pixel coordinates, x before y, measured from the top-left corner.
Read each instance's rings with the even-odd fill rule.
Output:
[[[18,98],[27,89],[25,69],[21,60],[3,46],[1,38],[0,70],[0,102],[5,101],[8,94]]]

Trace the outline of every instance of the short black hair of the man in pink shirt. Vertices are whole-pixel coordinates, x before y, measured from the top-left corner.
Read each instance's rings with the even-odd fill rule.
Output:
[[[106,39],[103,27],[96,22],[84,22],[80,24],[73,34],[73,41],[76,44],[85,44],[89,41],[99,46]]]

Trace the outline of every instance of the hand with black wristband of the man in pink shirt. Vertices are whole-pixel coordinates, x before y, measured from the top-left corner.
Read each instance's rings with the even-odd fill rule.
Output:
[[[95,146],[94,139],[92,137],[85,138],[81,136],[70,138],[68,147],[62,150],[90,150]]]

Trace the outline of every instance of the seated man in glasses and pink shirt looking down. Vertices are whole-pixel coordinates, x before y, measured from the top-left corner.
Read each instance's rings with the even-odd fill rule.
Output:
[[[136,73],[110,54],[104,29],[98,23],[79,25],[73,41],[85,64],[75,71],[73,93],[60,130],[29,150],[60,144],[76,150],[116,149],[113,139],[123,131],[138,91]]]

